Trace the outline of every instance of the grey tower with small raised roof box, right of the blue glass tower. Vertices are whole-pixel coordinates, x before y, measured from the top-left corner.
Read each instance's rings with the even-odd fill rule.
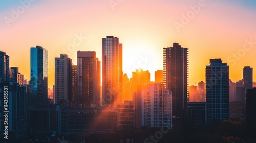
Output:
[[[55,58],[54,79],[54,103],[72,102],[72,59],[68,55],[60,54],[59,58]]]

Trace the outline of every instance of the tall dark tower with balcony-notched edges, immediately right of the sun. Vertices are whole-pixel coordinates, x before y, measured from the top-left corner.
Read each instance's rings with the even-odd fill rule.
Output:
[[[173,93],[173,117],[186,117],[188,96],[188,49],[179,43],[163,49],[164,87]]]

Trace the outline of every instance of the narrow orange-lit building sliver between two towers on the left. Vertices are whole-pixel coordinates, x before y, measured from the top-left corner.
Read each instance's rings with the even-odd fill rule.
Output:
[[[77,105],[77,65],[72,65],[72,107],[78,108]]]

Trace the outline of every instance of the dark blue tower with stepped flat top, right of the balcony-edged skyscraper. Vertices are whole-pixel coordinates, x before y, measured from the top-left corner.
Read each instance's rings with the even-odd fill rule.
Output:
[[[221,59],[206,66],[207,123],[229,119],[229,67]]]

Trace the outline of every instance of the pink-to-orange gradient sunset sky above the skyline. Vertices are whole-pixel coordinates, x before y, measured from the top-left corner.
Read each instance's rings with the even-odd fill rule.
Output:
[[[201,0],[33,1],[0,2],[0,50],[10,56],[10,66],[30,79],[30,47],[47,49],[49,87],[54,84],[54,57],[68,54],[76,64],[76,51],[96,51],[101,61],[101,38],[106,35],[123,43],[123,72],[129,77],[141,65],[154,81],[154,71],[162,69],[162,49],[173,42],[189,50],[189,85],[205,81],[210,58],[227,62],[232,81],[242,79],[244,66],[256,68],[256,1],[205,0],[194,15],[191,6]],[[23,8],[21,2],[29,3]],[[177,22],[183,23],[179,30]],[[86,39],[68,50],[79,35]],[[141,57],[150,60],[138,64]]]

